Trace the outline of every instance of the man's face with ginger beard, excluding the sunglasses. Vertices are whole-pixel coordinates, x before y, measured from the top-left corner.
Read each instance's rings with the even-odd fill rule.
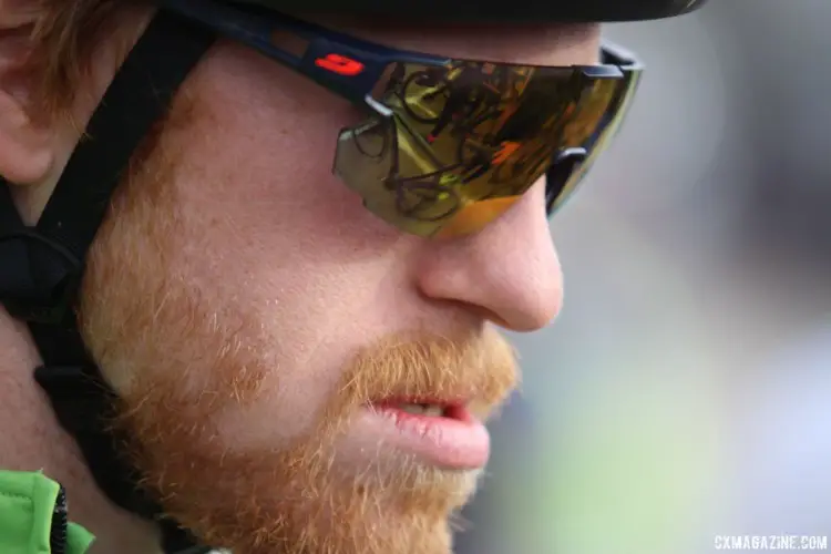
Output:
[[[594,27],[347,30],[551,65],[596,63],[599,47]],[[82,332],[123,397],[115,423],[145,484],[208,543],[449,552],[488,458],[479,421],[519,378],[495,327],[537,329],[561,305],[544,183],[476,235],[402,234],[332,175],[337,133],[359,117],[218,44],[91,253]],[[407,402],[443,417],[394,408]]]

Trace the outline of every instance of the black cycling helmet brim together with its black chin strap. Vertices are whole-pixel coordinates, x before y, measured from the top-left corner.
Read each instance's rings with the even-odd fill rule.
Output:
[[[474,0],[350,0],[348,12],[350,17],[406,14],[410,20],[424,20],[424,24],[474,20],[606,22],[679,16],[706,1],[540,0],[488,4]],[[275,18],[283,11],[331,14],[337,9],[329,0],[304,0],[301,10],[298,3],[284,0],[156,3],[161,10],[127,55],[89,123],[92,138],[78,145],[34,227],[22,223],[9,187],[0,177],[0,302],[29,325],[43,359],[43,366],[34,371],[35,379],[49,394],[61,425],[78,442],[98,485],[117,505],[160,521],[165,551],[179,552],[193,547],[196,541],[165,519],[153,500],[137,492],[137,475],[120,455],[119,438],[102,424],[116,396],[90,359],[72,310],[83,261],[131,155],[168,109],[182,82],[223,34],[222,25],[202,24],[209,19],[206,12],[213,10],[213,20],[222,21],[217,13],[222,16],[230,4],[245,4],[236,11]],[[238,30],[239,25],[228,27]]]

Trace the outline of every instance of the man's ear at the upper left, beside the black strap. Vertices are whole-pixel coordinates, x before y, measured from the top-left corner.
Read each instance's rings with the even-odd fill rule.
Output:
[[[31,31],[39,2],[0,0],[0,176],[29,185],[43,181],[54,162],[49,117],[33,117]]]

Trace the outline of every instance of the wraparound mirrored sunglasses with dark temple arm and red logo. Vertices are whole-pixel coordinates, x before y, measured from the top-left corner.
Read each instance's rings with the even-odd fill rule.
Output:
[[[643,68],[605,44],[601,65],[459,60],[388,48],[264,8],[158,0],[349,100],[334,173],[375,215],[423,237],[481,230],[546,177],[553,214],[605,150]]]

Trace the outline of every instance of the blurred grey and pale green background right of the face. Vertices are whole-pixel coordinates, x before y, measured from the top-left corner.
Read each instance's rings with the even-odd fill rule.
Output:
[[[524,391],[459,554],[831,535],[829,21],[731,0],[606,29],[648,72],[552,224],[565,308],[513,337]]]

